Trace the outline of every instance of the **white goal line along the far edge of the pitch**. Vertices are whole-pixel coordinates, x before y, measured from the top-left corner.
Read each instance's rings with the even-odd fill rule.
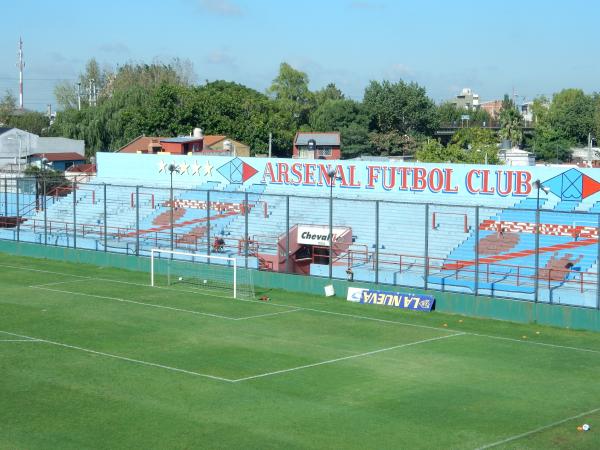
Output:
[[[55,274],[55,275],[70,275],[70,276],[77,277],[77,278],[86,278],[86,279],[90,278],[90,277],[86,277],[86,276],[83,276],[83,275],[73,275],[73,274],[64,273],[64,272],[55,272],[55,271],[50,271],[50,270],[35,269],[35,268],[32,268],[32,267],[11,266],[11,265],[8,265],[8,264],[0,264],[0,267],[8,267],[8,268],[11,268],[11,269],[26,270],[26,271],[31,271],[31,272],[50,273],[50,274]],[[128,284],[128,285],[133,285],[133,286],[149,287],[147,284],[133,283],[133,282],[129,282],[129,281],[112,280],[110,278],[94,278],[94,279],[98,280],[98,281],[110,281],[110,282],[114,282],[114,283]],[[172,288],[162,287],[162,286],[155,286],[155,288],[157,288],[157,289],[165,289],[165,290],[170,290],[170,291],[180,291],[179,289],[172,289]],[[181,292],[195,292],[195,293],[197,293],[197,291],[181,291]],[[133,302],[132,300],[130,300],[130,301]],[[324,309],[304,308],[304,307],[299,307],[299,306],[294,306],[294,305],[286,305],[286,304],[273,303],[273,302],[264,303],[264,302],[259,301],[259,300],[238,300],[238,301],[245,301],[245,302],[252,302],[252,303],[261,303],[261,304],[265,304],[265,305],[269,305],[269,306],[282,307],[282,308],[295,308],[294,311],[295,310],[299,310],[299,311],[313,311],[313,312],[317,312],[317,313],[321,313],[321,314],[331,314],[331,315],[336,315],[336,316],[345,316],[345,317],[351,317],[353,319],[371,320],[371,321],[374,321],[374,322],[390,323],[390,324],[401,325],[401,326],[408,326],[408,327],[415,327],[415,328],[424,328],[424,329],[429,329],[429,330],[445,331],[445,332],[449,332],[449,333],[453,333],[453,332],[459,331],[459,330],[455,330],[455,329],[452,329],[452,328],[440,328],[440,327],[433,327],[433,326],[429,326],[429,325],[421,325],[421,324],[416,324],[416,323],[401,322],[401,321],[397,321],[397,320],[378,319],[376,317],[363,316],[363,315],[360,315],[360,314],[340,313],[340,312],[334,312],[334,311],[327,311],[327,310],[324,310]],[[144,304],[147,304],[147,303],[144,303]],[[168,308],[168,307],[165,307],[165,308]],[[196,313],[196,312],[193,312],[193,313]],[[200,314],[200,313],[197,313],[197,314]],[[236,318],[224,317],[224,316],[221,316],[220,318],[237,320]],[[471,333],[471,332],[465,332],[465,334],[470,334],[470,335],[479,336],[479,337],[487,337],[487,338],[490,338],[490,339],[498,339],[498,340],[506,340],[506,341],[512,341],[512,342],[519,342],[519,343],[522,343],[522,344],[542,345],[542,346],[547,346],[547,347],[562,348],[562,349],[565,349],[565,350],[575,350],[575,351],[589,352],[589,353],[600,353],[600,350],[594,350],[594,349],[589,349],[589,348],[571,347],[571,346],[565,346],[565,345],[559,345],[559,344],[548,344],[548,343],[535,342],[535,341],[525,341],[525,340],[521,340],[521,339],[514,339],[514,338],[503,337],[503,336],[494,336],[494,335],[491,335],[491,334],[479,334],[479,333]]]

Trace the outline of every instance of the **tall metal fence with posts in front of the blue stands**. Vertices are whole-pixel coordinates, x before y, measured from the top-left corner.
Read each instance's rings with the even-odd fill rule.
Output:
[[[4,178],[0,239],[139,256],[218,252],[257,270],[600,307],[600,214],[575,203],[495,208],[235,189]],[[307,243],[302,230],[334,238]]]

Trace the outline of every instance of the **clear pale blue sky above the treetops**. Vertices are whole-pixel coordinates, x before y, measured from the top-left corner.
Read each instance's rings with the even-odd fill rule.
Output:
[[[4,3],[4,2],[3,2]],[[360,100],[371,80],[414,81],[436,102],[469,87],[482,101],[600,90],[594,0],[19,0],[3,4],[0,94],[56,108],[54,85],[88,59],[189,59],[196,82],[223,79],[263,92],[287,62],[311,89],[334,82]]]

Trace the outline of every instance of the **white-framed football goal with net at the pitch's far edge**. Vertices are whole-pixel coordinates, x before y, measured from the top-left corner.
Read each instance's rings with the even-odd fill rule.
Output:
[[[252,270],[221,255],[152,249],[150,285],[194,289],[220,297],[254,299]]]

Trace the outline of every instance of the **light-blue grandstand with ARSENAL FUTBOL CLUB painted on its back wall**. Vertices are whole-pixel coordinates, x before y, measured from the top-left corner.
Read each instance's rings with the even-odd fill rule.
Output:
[[[147,256],[211,253],[222,236],[224,256],[257,270],[598,305],[600,184],[588,169],[108,153],[97,163],[95,179],[41,206],[35,183],[4,189],[0,215],[21,220],[0,238]],[[303,237],[330,225],[331,254],[329,239]]]

